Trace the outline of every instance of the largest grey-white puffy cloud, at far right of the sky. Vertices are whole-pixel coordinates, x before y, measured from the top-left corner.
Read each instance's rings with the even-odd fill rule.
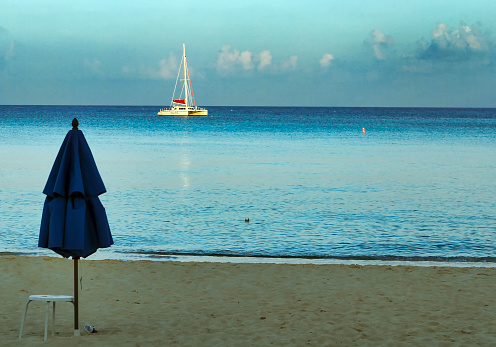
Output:
[[[416,57],[423,60],[467,60],[481,56],[494,46],[494,40],[483,34],[479,26],[460,23],[458,29],[450,29],[444,23],[431,31],[430,41],[418,42]]]

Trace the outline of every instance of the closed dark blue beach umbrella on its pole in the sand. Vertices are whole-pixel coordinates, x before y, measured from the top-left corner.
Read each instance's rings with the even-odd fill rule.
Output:
[[[74,334],[79,335],[78,260],[114,242],[105,208],[98,196],[106,192],[78,120],[55,158],[43,193],[38,246],[74,260]]]

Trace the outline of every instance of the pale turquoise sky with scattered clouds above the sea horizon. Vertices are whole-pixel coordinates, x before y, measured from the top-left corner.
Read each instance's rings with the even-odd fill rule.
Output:
[[[0,104],[496,107],[494,0],[2,0]]]

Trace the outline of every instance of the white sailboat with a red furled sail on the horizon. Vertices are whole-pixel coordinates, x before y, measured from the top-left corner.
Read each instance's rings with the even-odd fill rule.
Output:
[[[183,70],[183,78],[181,79],[182,86],[179,97],[175,99],[175,94],[179,82],[179,75]],[[181,83],[180,83],[181,84]],[[161,109],[158,113],[159,116],[206,116],[208,110],[197,107],[195,96],[193,94],[193,87],[191,86],[191,79],[189,78],[188,62],[186,61],[186,45],[183,43],[183,58],[179,65],[177,72],[176,85],[172,93],[171,105],[168,108]]]

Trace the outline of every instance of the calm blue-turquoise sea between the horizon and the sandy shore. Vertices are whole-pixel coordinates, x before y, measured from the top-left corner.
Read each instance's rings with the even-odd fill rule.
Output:
[[[0,252],[53,253],[42,190],[77,117],[115,242],[90,258],[496,263],[496,109],[159,109],[0,106]]]

